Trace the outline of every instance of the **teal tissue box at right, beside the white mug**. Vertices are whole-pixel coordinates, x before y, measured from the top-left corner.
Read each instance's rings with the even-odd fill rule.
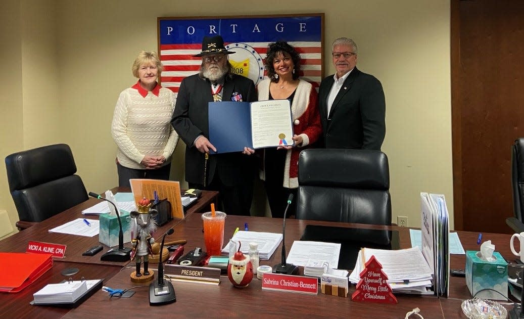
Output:
[[[508,263],[500,253],[494,252],[494,261],[479,258],[480,252],[466,251],[466,285],[472,296],[483,289],[493,289],[500,294],[485,290],[476,297],[494,300],[507,300],[508,296]]]

